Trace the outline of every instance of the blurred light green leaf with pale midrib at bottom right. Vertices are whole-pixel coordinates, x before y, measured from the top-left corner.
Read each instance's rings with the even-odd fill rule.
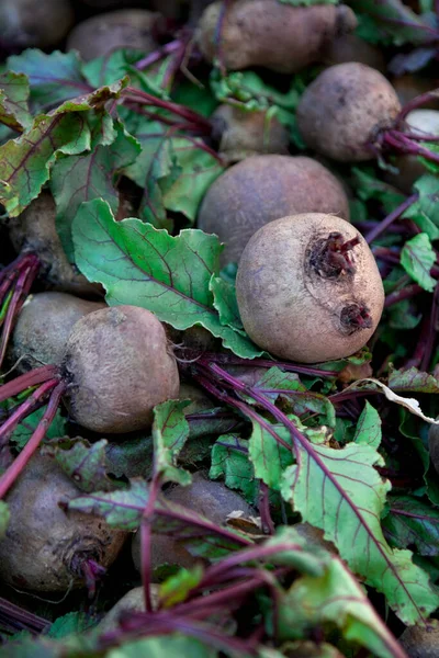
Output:
[[[297,535],[297,542],[304,543],[304,540]],[[279,606],[281,637],[306,636],[313,628],[329,623],[341,631],[346,640],[359,643],[375,656],[399,657],[395,638],[345,563],[326,551],[319,551],[318,555],[323,575],[301,576],[283,597]]]

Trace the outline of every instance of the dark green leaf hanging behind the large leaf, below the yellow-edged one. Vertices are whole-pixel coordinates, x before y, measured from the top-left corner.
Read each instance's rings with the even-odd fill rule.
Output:
[[[114,140],[111,145],[99,145],[80,156],[61,157],[55,162],[52,172],[50,189],[57,208],[57,230],[71,262],[75,261],[71,223],[79,206],[85,201],[103,198],[115,214],[119,207],[116,175],[140,151],[136,139],[126,133],[120,122],[114,122]]]

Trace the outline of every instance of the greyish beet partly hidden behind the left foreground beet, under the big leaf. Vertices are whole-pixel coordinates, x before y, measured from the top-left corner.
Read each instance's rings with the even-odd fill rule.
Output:
[[[23,306],[12,336],[9,360],[19,370],[59,364],[75,324],[85,315],[105,308],[65,293],[38,293]]]

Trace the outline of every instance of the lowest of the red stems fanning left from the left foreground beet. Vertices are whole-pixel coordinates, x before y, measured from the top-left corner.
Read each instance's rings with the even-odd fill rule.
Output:
[[[25,468],[32,455],[38,449],[40,443],[43,441],[48,428],[50,427],[55,418],[56,411],[59,406],[59,401],[64,392],[66,390],[66,384],[64,382],[59,382],[58,379],[54,379],[54,386],[55,388],[50,394],[47,409],[45,410],[44,416],[38,422],[34,433],[32,434],[31,439],[27,441],[26,445],[23,447],[16,460],[14,460],[14,462],[0,477],[0,500],[4,498],[9,489],[14,484],[15,479],[22,473],[23,468]]]

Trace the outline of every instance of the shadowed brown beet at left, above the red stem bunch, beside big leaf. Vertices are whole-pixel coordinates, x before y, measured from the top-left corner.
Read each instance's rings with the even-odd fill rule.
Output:
[[[41,262],[41,275],[50,287],[77,295],[97,294],[64,252],[55,226],[52,194],[43,192],[19,217],[9,220],[9,236],[16,251],[31,251]]]

